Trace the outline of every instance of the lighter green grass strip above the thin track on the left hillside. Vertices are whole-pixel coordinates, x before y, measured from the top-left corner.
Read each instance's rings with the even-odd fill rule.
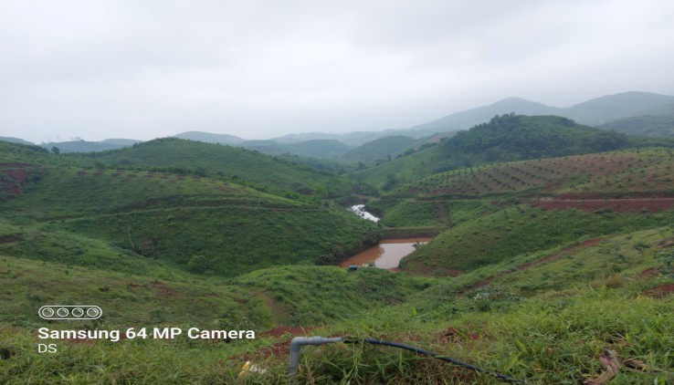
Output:
[[[216,179],[62,167],[42,169],[23,194],[3,204],[7,217],[38,221],[182,206],[296,208],[302,204]]]

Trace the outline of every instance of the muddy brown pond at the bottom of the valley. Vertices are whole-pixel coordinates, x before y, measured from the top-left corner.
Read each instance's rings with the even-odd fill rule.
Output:
[[[384,239],[379,245],[370,247],[369,249],[353,255],[349,259],[343,261],[341,267],[349,267],[350,265],[363,265],[367,263],[374,263],[375,266],[383,269],[397,269],[400,260],[405,255],[415,251],[414,245],[416,243],[426,244],[430,242],[431,238],[405,238],[405,239]]]

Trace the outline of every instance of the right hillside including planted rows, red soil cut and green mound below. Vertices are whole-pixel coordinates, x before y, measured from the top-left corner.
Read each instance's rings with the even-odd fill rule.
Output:
[[[456,276],[521,253],[669,224],[672,165],[672,152],[657,148],[498,163],[407,183],[368,207],[401,231],[435,226],[437,238],[403,265]]]

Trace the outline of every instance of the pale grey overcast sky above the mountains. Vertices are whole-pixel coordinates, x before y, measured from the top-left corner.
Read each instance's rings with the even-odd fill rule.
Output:
[[[0,0],[0,136],[406,128],[674,94],[671,0]]]

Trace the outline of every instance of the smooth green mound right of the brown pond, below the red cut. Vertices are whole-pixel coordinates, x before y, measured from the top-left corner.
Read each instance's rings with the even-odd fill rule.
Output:
[[[523,253],[547,250],[588,237],[669,225],[672,221],[672,212],[585,213],[544,211],[518,205],[458,224],[406,256],[401,266],[427,274],[466,272]]]

